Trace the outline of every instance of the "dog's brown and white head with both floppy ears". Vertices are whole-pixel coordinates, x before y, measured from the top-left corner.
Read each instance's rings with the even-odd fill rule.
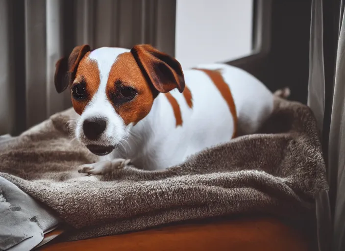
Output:
[[[149,45],[131,50],[77,46],[56,63],[55,88],[71,90],[74,110],[81,115],[75,136],[91,152],[110,153],[145,118],[159,93],[184,90],[180,64]]]

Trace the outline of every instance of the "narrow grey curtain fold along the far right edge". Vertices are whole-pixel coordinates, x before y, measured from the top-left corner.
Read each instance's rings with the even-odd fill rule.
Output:
[[[343,1],[342,1],[343,4]],[[341,8],[342,11],[343,8]],[[345,250],[345,19],[341,16],[329,133],[329,182],[334,205],[334,250]]]

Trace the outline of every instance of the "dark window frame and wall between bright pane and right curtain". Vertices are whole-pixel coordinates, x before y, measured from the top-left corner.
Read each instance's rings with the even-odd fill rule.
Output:
[[[254,0],[253,53],[225,62],[307,103],[311,1]]]

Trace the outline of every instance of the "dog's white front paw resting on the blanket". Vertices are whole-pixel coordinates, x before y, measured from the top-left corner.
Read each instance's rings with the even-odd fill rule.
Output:
[[[111,173],[116,169],[121,169],[127,166],[130,159],[113,159],[106,161],[99,161],[92,164],[85,164],[79,167],[79,173],[85,173],[88,175],[105,175]]]

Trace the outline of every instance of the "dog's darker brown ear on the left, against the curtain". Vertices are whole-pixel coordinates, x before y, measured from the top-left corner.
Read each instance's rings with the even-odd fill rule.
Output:
[[[89,51],[91,51],[89,45],[77,46],[72,50],[68,58],[63,57],[56,62],[54,83],[55,89],[58,93],[66,90],[66,88],[72,83],[80,60]]]

